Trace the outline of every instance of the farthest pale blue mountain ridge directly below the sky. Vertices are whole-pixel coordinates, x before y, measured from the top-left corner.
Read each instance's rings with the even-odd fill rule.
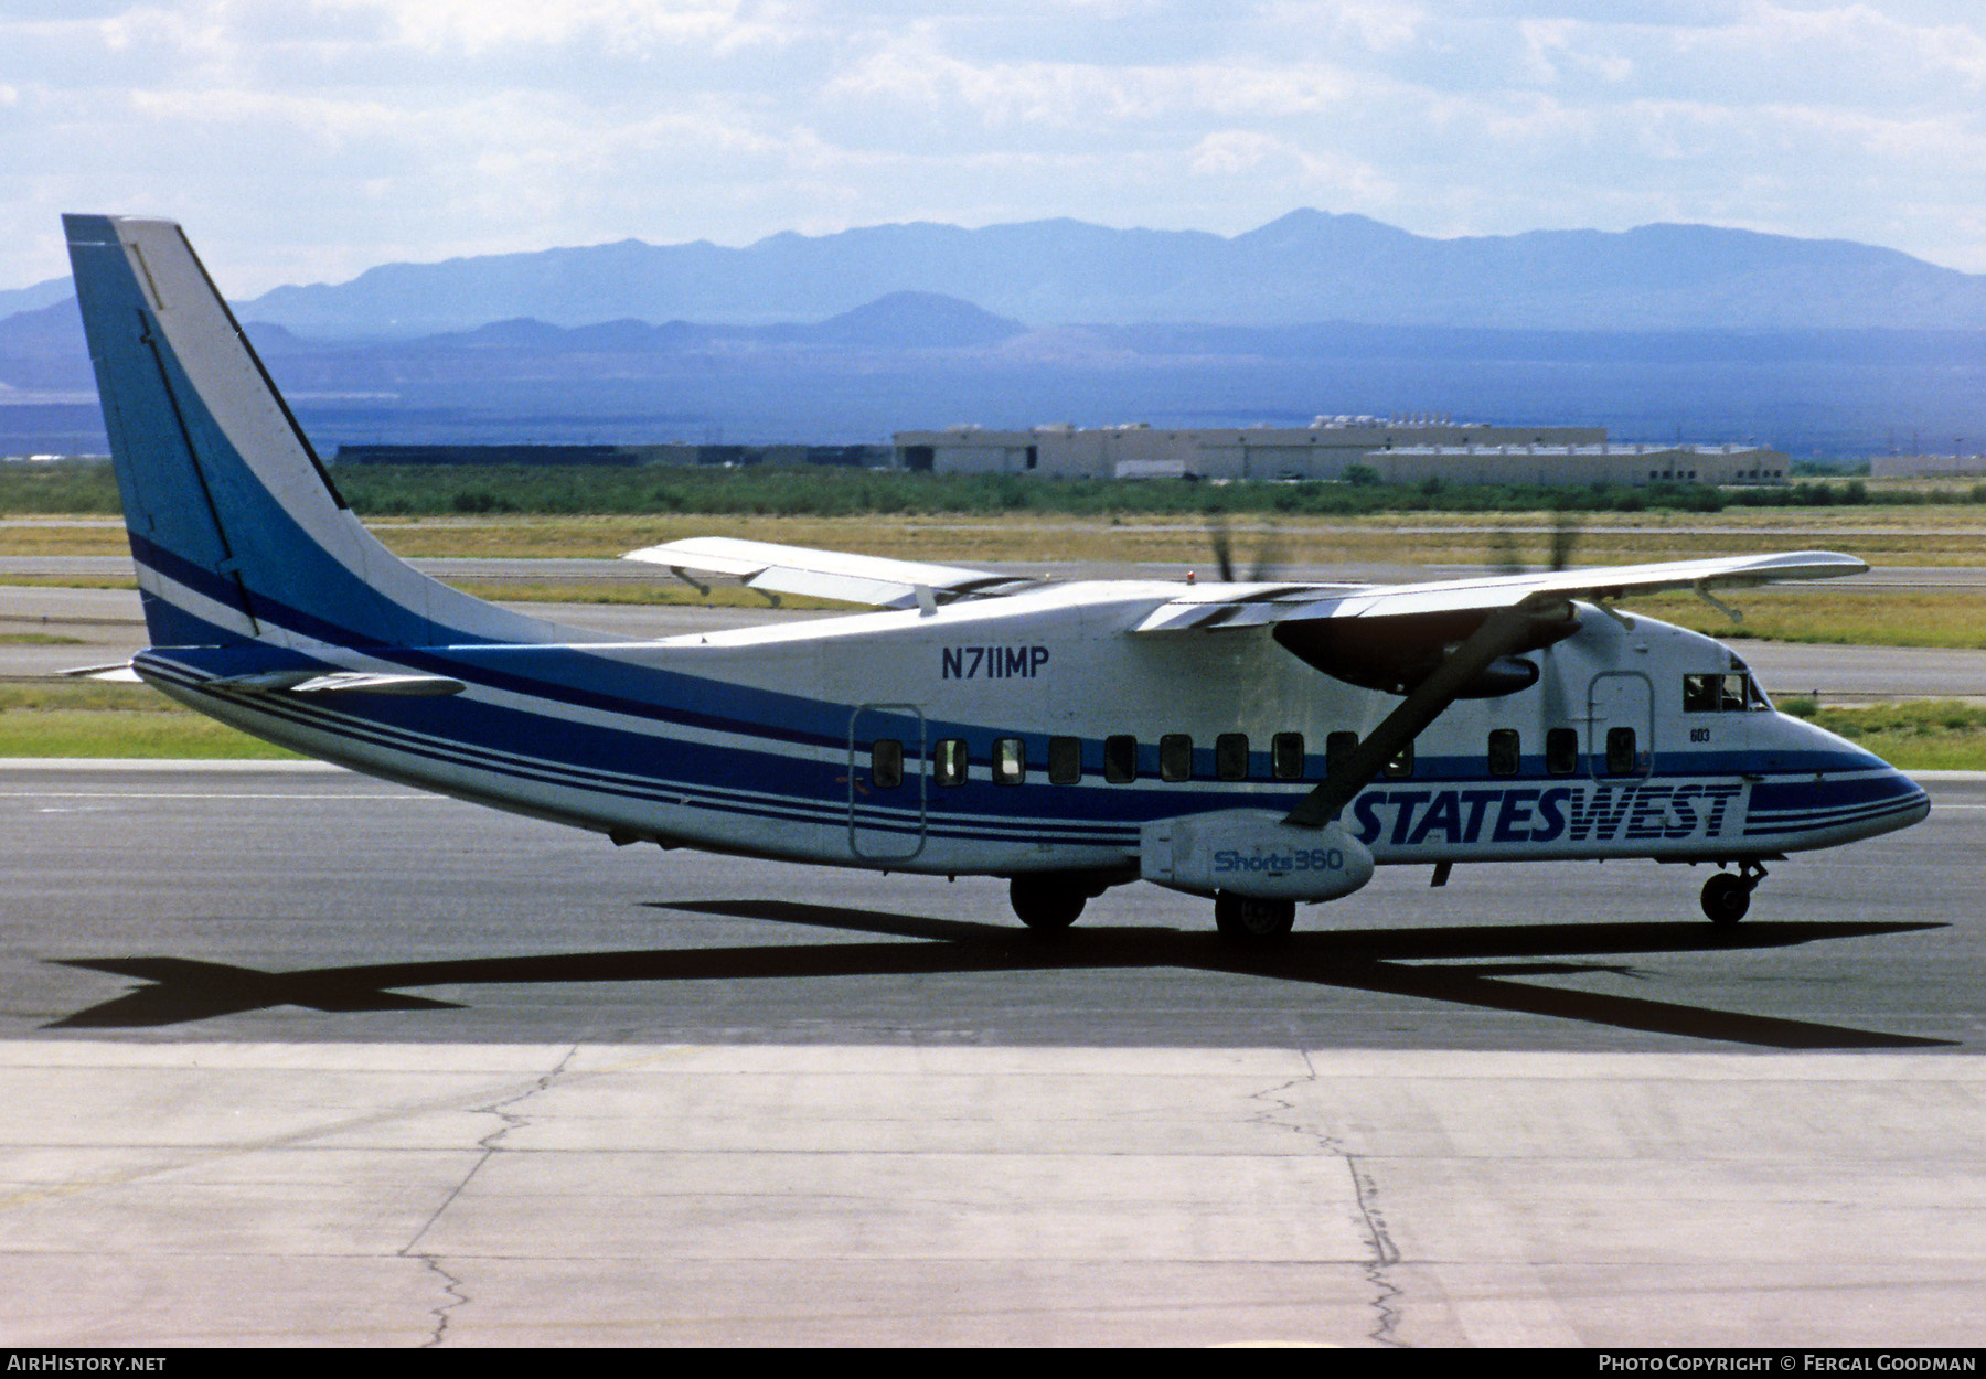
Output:
[[[747,248],[622,240],[381,264],[242,308],[298,334],[411,336],[518,316],[822,320],[894,292],[963,298],[1033,326],[1986,328],[1986,276],[1845,240],[1702,225],[1440,240],[1321,211],[1231,238],[1035,221],[775,234]]]

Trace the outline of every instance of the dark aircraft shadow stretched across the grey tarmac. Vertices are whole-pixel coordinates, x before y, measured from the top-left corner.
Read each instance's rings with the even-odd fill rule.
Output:
[[[1634,976],[1625,964],[1579,962],[1579,958],[1789,948],[1944,928],[1942,924],[1752,922],[1736,930],[1710,924],[1515,924],[1337,930],[1293,934],[1275,948],[1247,950],[1215,934],[1172,928],[1092,928],[1043,936],[1007,924],[790,900],[653,902],[653,908],[878,934],[890,942],[457,958],[298,972],[256,972],[191,958],[58,958],[52,962],[139,978],[149,986],[50,1021],[44,1029],[179,1025],[272,1005],[304,1005],[320,1011],[461,1009],[457,1001],[405,996],[397,990],[421,986],[1184,968],[1384,992],[1768,1049],[1924,1049],[1952,1043],[1634,996],[1569,992],[1515,980],[1587,972]]]

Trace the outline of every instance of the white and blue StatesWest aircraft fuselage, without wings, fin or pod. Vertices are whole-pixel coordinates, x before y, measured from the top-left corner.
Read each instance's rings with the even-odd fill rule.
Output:
[[[240,648],[139,670],[256,735],[562,823],[755,856],[912,872],[1136,870],[1150,821],[1285,813],[1398,699],[1267,628],[1134,634],[1176,584],[1066,584],[933,616],[850,614],[582,646],[320,656],[451,676],[401,699],[203,691]],[[1742,860],[1922,817],[1871,753],[1768,707],[1720,642],[1579,606],[1539,680],[1452,703],[1343,815],[1378,864]],[[1335,737],[1337,735],[1337,737]]]

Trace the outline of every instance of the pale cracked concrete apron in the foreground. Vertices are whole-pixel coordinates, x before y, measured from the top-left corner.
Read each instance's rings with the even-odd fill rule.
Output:
[[[4,1345],[1974,1345],[1986,1059],[0,1047]]]

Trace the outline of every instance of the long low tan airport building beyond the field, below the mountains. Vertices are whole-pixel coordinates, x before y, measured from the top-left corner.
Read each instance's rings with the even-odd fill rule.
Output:
[[[1756,445],[1609,445],[1605,427],[1478,425],[1448,417],[1317,417],[1307,427],[898,431],[896,463],[931,473],[1049,479],[1345,479],[1384,483],[1785,483]]]

